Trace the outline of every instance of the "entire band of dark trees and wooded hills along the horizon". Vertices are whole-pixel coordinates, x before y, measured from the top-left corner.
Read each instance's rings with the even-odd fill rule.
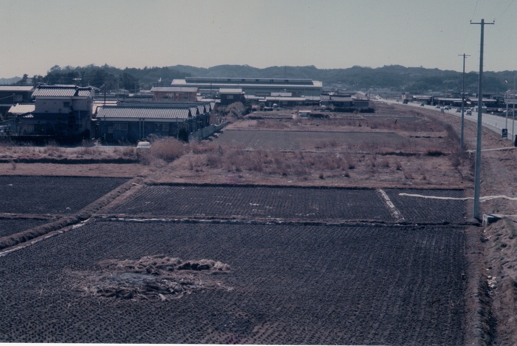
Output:
[[[517,71],[485,71],[483,90],[485,93],[505,92],[513,88]],[[336,85],[342,90],[359,91],[389,88],[393,91],[425,94],[435,92],[460,92],[462,73],[438,68],[404,67],[386,65],[371,68],[353,66],[349,68],[321,69],[315,66],[271,66],[256,68],[249,65],[218,65],[209,68],[175,65],[169,67],[116,68],[109,65],[84,67],[53,66],[47,75],[23,78],[15,84],[79,84],[93,85],[108,90],[126,89],[130,92],[149,90],[153,85],[170,85],[173,79],[185,77],[223,78],[286,78],[313,79],[324,85]],[[476,93],[478,73],[465,74],[465,91]]]

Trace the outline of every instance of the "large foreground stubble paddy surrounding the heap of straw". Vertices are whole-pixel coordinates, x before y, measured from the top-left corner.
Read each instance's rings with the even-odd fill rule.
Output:
[[[105,259],[229,264],[224,287],[178,299],[80,292]],[[94,222],[0,257],[0,341],[463,342],[463,230]],[[79,291],[78,291],[79,290]]]

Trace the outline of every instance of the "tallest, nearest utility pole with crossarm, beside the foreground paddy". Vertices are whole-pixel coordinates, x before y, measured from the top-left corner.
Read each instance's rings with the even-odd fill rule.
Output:
[[[494,21],[495,23],[495,21]],[[473,23],[470,24],[480,24],[481,25],[481,40],[479,44],[479,87],[478,87],[478,126],[477,126],[477,138],[476,138],[476,170],[474,173],[474,212],[473,216],[475,219],[479,220],[479,189],[480,189],[480,180],[481,180],[481,121],[482,121],[482,113],[483,113],[483,41],[484,41],[484,26],[485,24],[494,24],[494,23],[485,23],[484,19],[481,19],[481,23]]]

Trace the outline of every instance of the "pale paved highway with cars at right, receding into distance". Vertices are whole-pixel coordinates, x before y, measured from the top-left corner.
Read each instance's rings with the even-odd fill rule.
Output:
[[[377,97],[377,100],[386,102],[386,103],[402,105],[402,103],[397,102],[396,100],[390,100],[390,99],[381,98],[381,97]],[[437,112],[442,111],[441,109],[438,109],[435,106],[424,105],[422,107],[422,106],[420,106],[420,102],[409,102],[407,104],[407,106],[433,109]],[[450,114],[451,116],[457,116],[457,117],[461,118],[461,113],[457,113],[455,108],[451,108],[449,110],[444,110],[444,113]],[[515,110],[515,118],[517,118],[517,109]],[[477,122],[477,119],[478,119],[478,113],[475,113],[474,111],[472,111],[472,116],[467,116],[465,114],[465,121],[472,121],[475,123],[475,122]],[[500,116],[495,115],[495,114],[483,113],[481,119],[483,122],[483,126],[491,129],[492,131],[494,131],[495,133],[497,133],[499,135],[501,135],[501,129],[505,128],[505,125],[506,125],[506,116],[503,116],[503,113],[501,113]],[[513,124],[513,134],[517,135],[517,119],[515,119],[515,121],[512,122],[512,109],[510,108],[510,109],[508,109],[508,127],[507,127],[509,140],[513,140],[513,138],[515,138],[515,136],[512,136],[512,124]]]

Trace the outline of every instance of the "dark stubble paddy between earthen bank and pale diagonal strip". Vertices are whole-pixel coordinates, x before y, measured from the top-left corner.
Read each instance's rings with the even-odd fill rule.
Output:
[[[115,213],[190,217],[392,220],[374,190],[147,186]]]

